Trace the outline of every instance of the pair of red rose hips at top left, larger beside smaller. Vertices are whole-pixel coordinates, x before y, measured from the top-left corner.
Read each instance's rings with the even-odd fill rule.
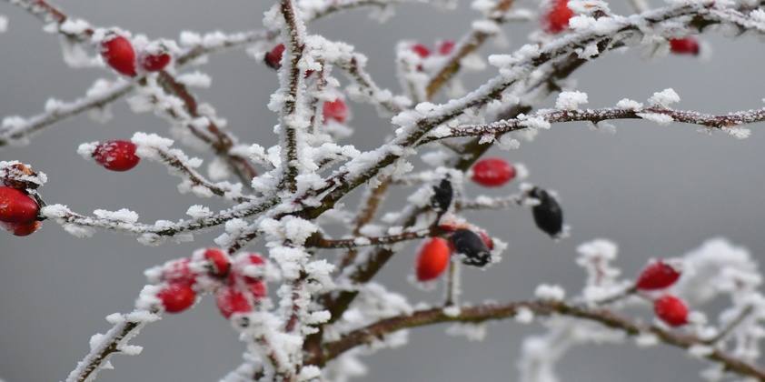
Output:
[[[109,66],[122,75],[136,75],[136,55],[133,45],[122,35],[110,34],[101,41],[101,56]],[[141,52],[137,64],[146,72],[158,72],[170,64],[166,49],[159,52]]]

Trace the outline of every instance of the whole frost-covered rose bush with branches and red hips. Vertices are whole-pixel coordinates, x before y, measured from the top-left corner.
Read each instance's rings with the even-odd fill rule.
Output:
[[[432,47],[412,40],[395,46],[394,84],[377,82],[367,69],[368,47],[315,34],[312,23],[367,8],[385,21],[394,8],[452,10],[456,1],[278,0],[252,31],[184,31],[177,40],[91,25],[45,0],[5,3],[7,13],[19,7],[57,35],[66,65],[101,68],[111,79],[95,81],[74,101],[51,98],[35,116],[5,116],[0,148],[32,145],[28,150],[34,152],[38,135],[82,113],[112,123],[110,107],[124,98],[135,114],[162,117],[169,136],[139,127],[129,141],[83,138],[73,152],[119,173],[159,164],[180,179],[179,193],[203,201],[179,211],[183,218],[154,222],[126,207],[78,212],[65,198],[46,194],[46,184],[65,177],[48,179],[34,160],[5,158],[0,161],[0,227],[8,231],[3,240],[9,235],[35,240],[35,231],[56,225],[78,237],[124,233],[144,246],[218,234],[179,258],[158,256],[157,265],[144,272],[147,283],[136,291],[133,309],[106,317],[113,327],[90,339],[90,352],[66,382],[92,381],[113,367],[113,356],[139,354],[141,347],[130,344],[139,330],[172,320],[165,314],[182,314],[204,298],[214,300],[244,344],[243,364],[221,376],[225,382],[346,381],[366,372],[361,356],[406,345],[405,329],[451,323],[448,334],[480,340],[489,331],[485,323],[494,320],[539,321],[547,329],[516,344],[522,350],[522,381],[565,380],[555,366],[571,347],[630,340],[703,358],[708,367],[702,375],[710,380],[765,381],[759,365],[765,297],[762,274],[748,250],[713,238],[685,256],[654,259],[640,274],[625,276],[617,267],[619,247],[610,240],[574,249],[567,239],[565,195],[553,191],[554,184],[522,183],[534,181],[525,166],[483,157],[495,145],[503,150],[522,142],[535,145],[526,142],[577,121],[608,132],[614,131],[610,121],[634,119],[750,136],[745,125],[765,120],[765,108],[723,115],[678,110],[681,97],[672,88],[656,89],[644,103],[624,98],[614,99],[613,107],[583,108],[597,98],[574,90],[571,77],[615,50],[641,50],[651,59],[670,53],[702,57],[705,45],[697,36],[714,30],[762,39],[765,3],[672,0],[651,8],[628,0],[629,15],[620,15],[601,0],[541,5],[474,0],[478,16],[464,25],[462,37]],[[0,32],[14,27],[8,20],[0,15]],[[13,21],[25,22],[20,16]],[[522,44],[486,54],[488,41],[509,44],[506,25],[530,21],[539,26]],[[241,47],[256,59],[253,65],[267,65],[278,77],[268,103],[278,121],[272,146],[261,146],[247,132],[234,136],[214,106],[194,93],[194,87],[213,85],[200,69],[208,56]],[[466,88],[472,72],[488,80]],[[376,109],[378,123],[354,128],[353,109],[364,104]],[[391,135],[372,142],[373,148],[343,144],[353,134],[367,134],[364,129],[390,126]],[[189,150],[206,157],[190,156]],[[474,186],[496,191],[512,185],[517,191],[504,196],[471,195]],[[407,193],[405,206],[385,203],[401,192]],[[352,194],[359,197],[348,197]],[[156,201],[174,197],[158,195]],[[205,205],[211,198],[227,207],[216,211],[214,202]],[[520,301],[464,301],[462,276],[484,271],[485,277],[502,277],[495,265],[508,248],[471,213],[511,207],[528,209],[529,224],[546,240],[579,254],[575,262],[586,278],[581,292],[540,280]],[[414,246],[406,246],[410,242]],[[90,243],[84,241],[83,251]],[[412,301],[409,285],[379,279],[392,258],[412,252],[417,254],[412,284],[441,293],[439,303]],[[726,307],[715,318],[701,312],[720,296],[727,297]]]

